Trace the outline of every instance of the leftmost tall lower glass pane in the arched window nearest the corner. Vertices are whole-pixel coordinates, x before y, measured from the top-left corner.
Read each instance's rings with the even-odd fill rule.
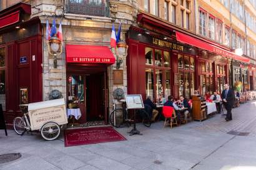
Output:
[[[145,93],[154,100],[154,72],[150,68],[145,68]]]

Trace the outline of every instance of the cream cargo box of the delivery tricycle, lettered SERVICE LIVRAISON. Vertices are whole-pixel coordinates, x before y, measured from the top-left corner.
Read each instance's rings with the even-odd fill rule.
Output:
[[[31,130],[40,130],[44,123],[54,121],[59,125],[67,123],[64,98],[46,102],[31,103],[28,106]]]

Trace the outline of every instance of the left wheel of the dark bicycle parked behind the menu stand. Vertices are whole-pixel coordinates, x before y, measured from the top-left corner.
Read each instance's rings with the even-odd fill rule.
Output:
[[[109,116],[109,122],[116,128],[123,128],[126,126],[122,108],[117,108],[111,112]]]

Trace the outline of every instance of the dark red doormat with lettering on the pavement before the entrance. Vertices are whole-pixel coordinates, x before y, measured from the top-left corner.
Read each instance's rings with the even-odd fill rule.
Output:
[[[111,126],[65,130],[64,139],[66,147],[126,140]]]

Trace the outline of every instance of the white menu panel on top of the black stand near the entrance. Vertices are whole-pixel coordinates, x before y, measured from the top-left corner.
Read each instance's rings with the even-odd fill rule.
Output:
[[[141,95],[126,95],[127,109],[144,108]]]

